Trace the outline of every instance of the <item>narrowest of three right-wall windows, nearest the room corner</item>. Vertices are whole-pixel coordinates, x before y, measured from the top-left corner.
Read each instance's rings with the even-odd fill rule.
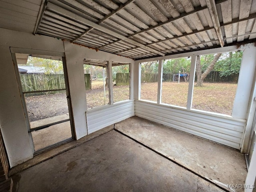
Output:
[[[141,63],[140,98],[157,102],[158,61]]]

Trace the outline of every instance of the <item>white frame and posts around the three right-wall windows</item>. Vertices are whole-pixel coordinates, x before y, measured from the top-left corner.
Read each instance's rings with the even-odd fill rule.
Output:
[[[204,111],[204,110],[198,110],[198,109],[193,109],[192,108],[192,100],[193,100],[193,92],[194,92],[194,79],[195,79],[195,73],[196,73],[196,56],[197,55],[205,55],[205,54],[216,54],[216,53],[225,53],[225,52],[231,52],[231,51],[239,51],[242,50],[244,51],[243,56],[242,56],[242,62],[241,62],[241,67],[240,67],[240,74],[238,78],[238,85],[236,89],[236,94],[235,94],[235,99],[234,99],[234,104],[233,104],[233,110],[232,110],[232,115],[226,115],[226,114],[221,114],[221,113],[216,113],[216,112],[209,112],[209,111]],[[142,60],[137,60],[135,62],[136,65],[138,65],[137,70],[138,70],[138,92],[135,97],[138,98],[138,100],[144,101],[144,102],[151,102],[151,103],[156,103],[160,106],[168,106],[170,108],[177,108],[180,110],[188,110],[188,111],[194,111],[202,114],[209,114],[211,116],[221,116],[221,117],[227,117],[227,118],[238,118],[238,119],[246,119],[246,111],[240,114],[239,107],[241,107],[241,99],[242,103],[246,103],[246,97],[240,96],[238,93],[243,92],[245,90],[247,92],[247,97],[248,94],[250,94],[250,91],[248,89],[251,89],[251,86],[249,85],[248,88],[246,89],[246,86],[243,86],[244,80],[243,77],[245,76],[246,71],[250,68],[248,64],[246,65],[246,56],[245,50],[248,51],[247,56],[250,54],[250,44],[247,44],[245,46],[241,46],[240,48],[237,48],[236,46],[229,46],[229,47],[223,47],[223,48],[214,48],[210,50],[201,50],[201,51],[195,51],[195,52],[187,52],[187,53],[182,53],[182,54],[175,54],[175,55],[170,55],[170,56],[162,56],[158,58],[150,58],[150,59],[142,59]],[[171,104],[164,104],[161,102],[161,97],[162,97],[162,86],[161,88],[159,87],[162,85],[162,78],[158,81],[158,101],[157,102],[152,102],[150,100],[142,100],[140,97],[140,92],[141,92],[141,87],[140,87],[140,78],[141,78],[141,63],[143,62],[148,62],[148,61],[154,61],[158,60],[159,61],[159,69],[158,69],[158,74],[160,73],[161,70],[161,75],[162,75],[162,66],[160,66],[160,60],[166,60],[166,59],[175,59],[175,58],[181,58],[181,57],[191,57],[191,65],[190,65],[190,79],[189,79],[189,86],[188,86],[188,98],[187,98],[187,106],[181,107],[181,106],[176,106],[176,105],[171,105]],[[161,62],[162,63],[162,62]],[[243,64],[244,63],[244,64]],[[250,63],[250,62],[249,62]],[[161,64],[162,65],[162,64]],[[253,68],[253,66],[251,66]],[[252,69],[251,69],[252,70]],[[252,70],[252,73],[254,74],[254,69]],[[136,87],[137,88],[137,87]],[[249,96],[250,97],[250,96]],[[247,100],[248,102],[248,100]]]

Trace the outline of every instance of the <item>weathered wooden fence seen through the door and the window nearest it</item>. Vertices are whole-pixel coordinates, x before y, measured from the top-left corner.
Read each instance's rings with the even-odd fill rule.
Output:
[[[84,74],[86,90],[91,89],[90,74]],[[23,92],[54,90],[66,88],[64,74],[20,74]],[[45,93],[33,93],[40,95]]]

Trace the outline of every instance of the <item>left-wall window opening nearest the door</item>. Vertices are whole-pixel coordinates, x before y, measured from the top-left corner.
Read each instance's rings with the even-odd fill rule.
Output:
[[[109,103],[109,98],[106,66],[102,67],[84,64],[84,78],[87,108],[107,105]]]

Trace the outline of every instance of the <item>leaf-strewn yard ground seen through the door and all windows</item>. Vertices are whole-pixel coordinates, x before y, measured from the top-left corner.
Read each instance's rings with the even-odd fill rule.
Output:
[[[104,99],[102,83],[97,82],[94,89],[86,91],[87,108],[94,108],[108,104],[108,87]],[[204,87],[195,87],[192,108],[232,114],[237,84],[232,83],[204,83]],[[130,98],[129,86],[114,86],[114,102]],[[186,107],[188,97],[188,83],[163,82],[162,103]],[[157,82],[141,84],[141,98],[157,100]],[[49,118],[68,113],[66,93],[56,93],[26,97],[28,116],[30,121]]]

